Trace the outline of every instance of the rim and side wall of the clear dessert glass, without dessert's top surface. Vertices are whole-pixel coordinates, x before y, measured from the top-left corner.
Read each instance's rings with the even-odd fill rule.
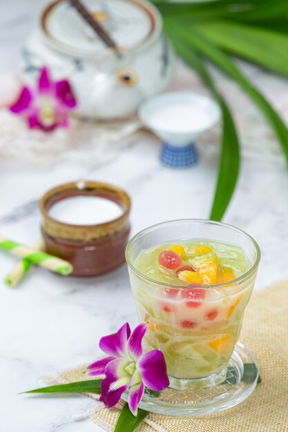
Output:
[[[201,307],[189,307],[180,293],[187,288],[156,282],[135,268],[135,260],[143,250],[187,240],[238,246],[251,266],[231,282],[200,288],[205,290],[205,296],[196,306]],[[255,240],[220,222],[175,220],[135,235],[126,248],[126,261],[140,322],[148,322],[146,344],[164,354],[170,386],[189,389],[223,382],[258,271],[260,249]]]

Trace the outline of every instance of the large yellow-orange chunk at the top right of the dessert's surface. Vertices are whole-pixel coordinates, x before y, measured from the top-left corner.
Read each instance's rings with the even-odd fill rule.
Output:
[[[211,252],[206,255],[190,258],[189,264],[200,273],[204,284],[218,284],[219,258],[215,253]]]

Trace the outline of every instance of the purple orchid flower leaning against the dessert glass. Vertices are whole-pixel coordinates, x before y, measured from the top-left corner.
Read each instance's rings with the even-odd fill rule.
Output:
[[[101,383],[100,400],[107,408],[119,402],[128,389],[130,411],[137,415],[145,386],[154,391],[161,391],[169,386],[164,355],[155,349],[143,354],[142,340],[147,325],[139,324],[133,333],[128,323],[117,333],[102,337],[99,346],[108,355],[88,366],[88,375],[105,375]]]

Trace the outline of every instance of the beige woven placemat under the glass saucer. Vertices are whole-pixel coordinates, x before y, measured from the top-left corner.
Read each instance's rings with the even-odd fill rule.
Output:
[[[253,294],[240,340],[256,356],[262,378],[247,400],[222,413],[197,418],[150,413],[137,432],[288,431],[288,280]],[[83,380],[84,369],[85,366],[79,366],[66,371],[59,375],[57,382]],[[97,402],[89,417],[106,431],[113,431],[121,406],[122,402],[106,409]]]

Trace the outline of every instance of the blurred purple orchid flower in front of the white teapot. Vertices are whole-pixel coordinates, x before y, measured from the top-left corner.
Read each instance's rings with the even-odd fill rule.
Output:
[[[39,128],[52,132],[57,127],[68,127],[67,111],[77,102],[66,79],[51,81],[47,68],[40,71],[37,88],[32,91],[24,86],[19,99],[10,111],[26,118],[30,129]]]

